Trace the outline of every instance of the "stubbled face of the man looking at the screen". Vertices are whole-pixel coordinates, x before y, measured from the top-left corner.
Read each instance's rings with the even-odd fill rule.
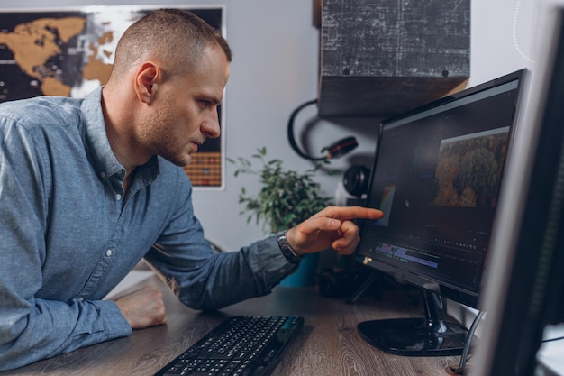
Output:
[[[199,145],[220,135],[217,106],[228,78],[223,50],[206,49],[195,69],[159,89],[152,115],[141,126],[143,143],[178,166],[190,163]]]

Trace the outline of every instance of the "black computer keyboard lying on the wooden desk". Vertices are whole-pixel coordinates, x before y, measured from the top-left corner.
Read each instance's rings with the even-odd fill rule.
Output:
[[[299,316],[232,316],[155,376],[269,375],[303,325]]]

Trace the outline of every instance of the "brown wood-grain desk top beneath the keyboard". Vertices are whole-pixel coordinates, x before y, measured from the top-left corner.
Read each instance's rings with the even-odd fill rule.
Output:
[[[152,375],[227,316],[297,315],[305,326],[274,372],[276,376],[338,375],[448,375],[459,357],[409,358],[383,353],[358,334],[360,321],[399,316],[420,316],[405,298],[360,298],[354,305],[343,299],[323,298],[315,288],[277,287],[273,293],[253,298],[214,313],[200,313],[180,304],[156,277],[142,284],[163,291],[168,324],[136,330],[129,337],[79,349],[35,362],[0,375],[120,376]],[[397,307],[401,307],[401,310]]]

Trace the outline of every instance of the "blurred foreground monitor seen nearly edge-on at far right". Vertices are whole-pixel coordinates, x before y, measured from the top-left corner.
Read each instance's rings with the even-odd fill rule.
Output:
[[[564,11],[553,11],[501,192],[476,376],[562,374],[561,359],[537,364],[545,326],[564,323]]]

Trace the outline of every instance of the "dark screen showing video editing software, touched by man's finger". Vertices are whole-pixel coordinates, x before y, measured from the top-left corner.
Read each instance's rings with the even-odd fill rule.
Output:
[[[497,110],[516,87],[384,124],[368,206],[385,216],[363,233],[372,259],[478,294],[513,122]]]

